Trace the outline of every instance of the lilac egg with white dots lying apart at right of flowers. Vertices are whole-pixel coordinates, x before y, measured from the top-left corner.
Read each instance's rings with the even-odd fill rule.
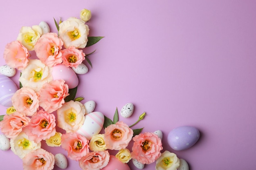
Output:
[[[180,126],[168,133],[167,142],[174,150],[185,150],[199,139],[199,130],[192,126]]]

